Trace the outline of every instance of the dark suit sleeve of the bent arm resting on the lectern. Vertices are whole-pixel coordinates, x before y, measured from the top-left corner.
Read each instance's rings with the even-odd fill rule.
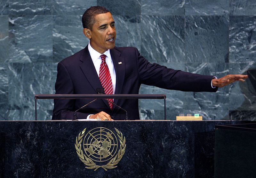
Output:
[[[57,67],[55,94],[74,94],[74,87],[68,70],[59,62]],[[75,111],[74,99],[54,99],[52,120],[73,119]],[[77,118],[86,118],[88,114],[77,112]]]

